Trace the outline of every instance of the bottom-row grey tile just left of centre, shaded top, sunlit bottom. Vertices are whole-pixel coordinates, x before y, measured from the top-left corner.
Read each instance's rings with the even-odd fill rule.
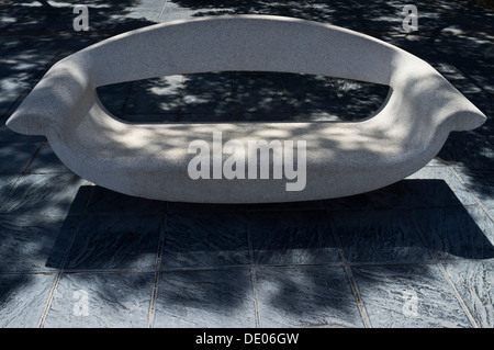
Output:
[[[250,270],[162,272],[154,327],[256,327]]]

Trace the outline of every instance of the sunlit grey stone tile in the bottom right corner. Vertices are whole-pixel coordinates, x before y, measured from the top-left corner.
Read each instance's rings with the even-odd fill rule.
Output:
[[[481,328],[494,328],[494,261],[446,263],[445,270]]]

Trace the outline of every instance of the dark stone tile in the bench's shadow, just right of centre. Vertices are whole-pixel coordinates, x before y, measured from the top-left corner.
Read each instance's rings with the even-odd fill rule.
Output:
[[[321,264],[340,261],[325,211],[250,214],[257,264]]]

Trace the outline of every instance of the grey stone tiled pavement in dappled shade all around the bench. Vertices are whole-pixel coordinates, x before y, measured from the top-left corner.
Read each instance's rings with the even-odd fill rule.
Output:
[[[90,30],[75,32],[74,3]],[[469,1],[0,1],[1,327],[494,327],[494,11]],[[75,176],[3,125],[44,71],[127,30],[267,13],[352,29],[424,58],[489,117],[427,167],[348,199],[166,203]],[[117,63],[115,63],[117,64]],[[127,121],[357,120],[388,89],[212,72],[100,88]]]

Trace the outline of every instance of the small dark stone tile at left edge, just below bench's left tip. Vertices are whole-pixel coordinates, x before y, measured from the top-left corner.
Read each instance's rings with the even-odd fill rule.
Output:
[[[21,174],[36,155],[40,144],[3,144],[0,147],[0,173]]]

